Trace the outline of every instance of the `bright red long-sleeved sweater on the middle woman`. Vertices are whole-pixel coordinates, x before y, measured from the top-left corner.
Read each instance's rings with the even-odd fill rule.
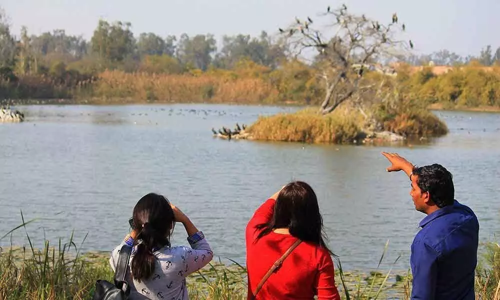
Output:
[[[256,242],[260,232],[256,225],[267,222],[274,211],[274,199],[268,199],[253,214],[246,225],[246,267],[248,268],[248,296],[271,265],[297,240],[289,234],[271,231]],[[256,299],[340,300],[335,286],[333,262],[326,249],[311,242],[301,242],[269,276]],[[249,298],[249,297],[248,297]]]

